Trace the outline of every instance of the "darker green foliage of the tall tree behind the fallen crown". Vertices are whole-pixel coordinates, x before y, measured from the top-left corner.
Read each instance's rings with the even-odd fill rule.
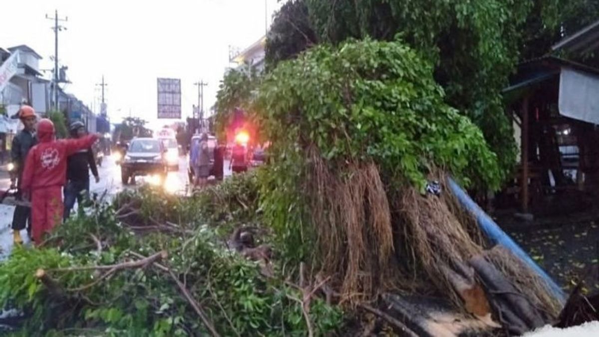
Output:
[[[471,118],[497,154],[503,174],[515,164],[512,125],[501,89],[518,61],[529,2],[513,0],[306,0],[320,41],[403,41],[434,65],[445,100]]]

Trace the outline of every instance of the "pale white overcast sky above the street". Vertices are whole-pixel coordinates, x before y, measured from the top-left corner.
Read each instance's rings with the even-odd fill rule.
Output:
[[[99,110],[96,83],[104,74],[111,121],[131,109],[157,127],[163,124],[156,119],[157,77],[181,79],[183,118],[198,100],[193,82],[204,79],[208,110],[230,65],[228,46],[243,49],[257,41],[265,17],[270,25],[279,6],[277,0],[3,0],[0,47],[27,44],[43,56],[40,68],[52,69],[53,21],[45,17],[58,10],[68,17],[58,51],[60,64],[69,67],[66,91]]]

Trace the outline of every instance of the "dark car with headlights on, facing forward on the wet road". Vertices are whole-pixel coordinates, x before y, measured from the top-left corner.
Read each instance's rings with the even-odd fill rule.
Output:
[[[154,138],[136,138],[120,164],[123,185],[135,176],[157,176],[164,182],[168,173],[167,151],[162,142]]]

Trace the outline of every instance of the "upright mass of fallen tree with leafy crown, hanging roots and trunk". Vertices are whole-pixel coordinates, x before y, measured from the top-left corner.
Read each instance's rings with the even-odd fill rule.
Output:
[[[488,330],[550,322],[559,300],[509,251],[492,249],[445,188],[447,172],[497,189],[501,170],[422,60],[401,42],[348,41],[265,76],[249,109],[276,158],[265,222],[283,258],[330,276],[346,308],[388,292],[434,294]]]

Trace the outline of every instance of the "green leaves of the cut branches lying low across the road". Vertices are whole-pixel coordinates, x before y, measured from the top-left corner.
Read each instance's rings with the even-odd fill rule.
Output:
[[[301,299],[301,293],[285,284],[278,266],[274,277],[266,278],[258,263],[229,251],[222,239],[226,233],[217,233],[227,219],[217,221],[222,213],[206,202],[221,198],[226,209],[255,219],[256,179],[253,174],[238,176],[192,198],[168,196],[149,187],[126,192],[114,204],[96,203],[89,215],[78,213],[60,225],[44,248],[15,249],[0,263],[0,303],[4,308],[20,309],[26,317],[14,334],[207,335],[173,279],[156,267],[119,270],[91,286],[101,275],[94,269],[57,270],[116,264],[136,260],[135,254],[150,256],[166,250],[168,259],[159,263],[179,276],[221,335],[306,335],[301,304],[295,300]],[[243,194],[247,195],[240,195],[237,188],[245,188]],[[235,193],[238,198],[233,197]],[[127,222],[117,219],[116,209],[124,204],[139,207],[135,225],[149,225],[150,218],[181,219],[188,222],[182,226],[188,231],[135,234]],[[92,235],[101,242],[101,251]],[[55,248],[51,248],[53,244]],[[58,288],[49,288],[34,276],[40,268]],[[310,307],[316,335],[339,329],[340,309],[320,299],[313,299]]]

